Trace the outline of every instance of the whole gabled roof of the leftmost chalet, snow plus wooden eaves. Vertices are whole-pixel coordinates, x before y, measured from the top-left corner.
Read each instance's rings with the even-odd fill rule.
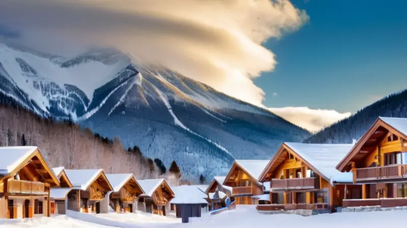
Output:
[[[60,180],[54,174],[47,159],[42,156],[38,147],[32,146],[0,147],[0,178],[14,176],[34,157],[39,159],[47,175],[52,179],[51,186],[60,185]]]

